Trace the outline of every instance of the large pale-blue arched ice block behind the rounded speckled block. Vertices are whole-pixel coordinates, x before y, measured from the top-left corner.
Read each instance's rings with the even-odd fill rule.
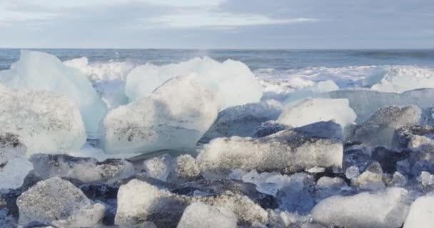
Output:
[[[221,108],[255,103],[262,96],[261,87],[248,66],[232,60],[220,63],[208,57],[166,66],[150,63],[138,66],[128,74],[126,95],[130,100],[138,100],[151,94],[168,79],[190,74],[195,74],[196,80],[221,95]]]

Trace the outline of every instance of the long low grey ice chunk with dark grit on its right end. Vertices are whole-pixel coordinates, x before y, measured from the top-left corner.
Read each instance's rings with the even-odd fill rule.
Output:
[[[109,159],[103,162],[90,157],[36,154],[30,157],[34,172],[48,179],[66,177],[82,182],[115,182],[135,174],[131,162]]]

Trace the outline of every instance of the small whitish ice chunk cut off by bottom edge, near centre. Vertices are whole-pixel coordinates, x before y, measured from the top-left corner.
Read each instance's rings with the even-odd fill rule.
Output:
[[[231,209],[213,207],[196,202],[188,206],[179,221],[178,228],[236,228],[236,215]]]

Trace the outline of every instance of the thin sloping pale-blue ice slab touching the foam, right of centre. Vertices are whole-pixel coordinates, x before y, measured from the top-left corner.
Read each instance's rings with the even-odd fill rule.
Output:
[[[287,104],[288,106],[293,106],[297,103],[300,103],[302,100],[305,100],[306,98],[314,98],[319,93],[325,93],[334,90],[339,90],[339,87],[334,81],[320,81],[313,86],[303,88],[301,90],[296,90],[293,93],[290,93],[289,97],[286,98],[283,103]]]

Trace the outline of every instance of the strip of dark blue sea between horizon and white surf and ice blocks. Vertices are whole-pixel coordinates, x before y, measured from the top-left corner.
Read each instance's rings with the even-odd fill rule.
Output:
[[[62,61],[86,56],[92,62],[176,63],[193,57],[228,58],[252,70],[287,70],[305,67],[413,65],[434,66],[434,50],[173,50],[173,49],[31,49],[54,54]],[[0,49],[0,70],[18,60],[19,49]]]

